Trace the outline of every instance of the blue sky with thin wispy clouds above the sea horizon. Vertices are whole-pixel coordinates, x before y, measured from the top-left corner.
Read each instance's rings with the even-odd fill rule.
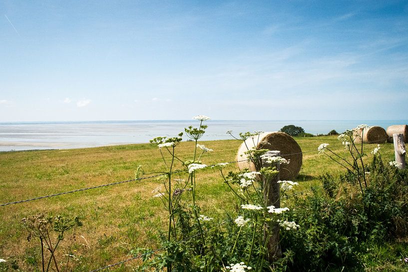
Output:
[[[408,119],[408,1],[0,1],[0,122]]]

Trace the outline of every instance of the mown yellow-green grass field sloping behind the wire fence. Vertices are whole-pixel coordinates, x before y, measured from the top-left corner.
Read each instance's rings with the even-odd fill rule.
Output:
[[[319,175],[339,175],[344,171],[316,151],[321,143],[329,143],[332,150],[346,154],[337,137],[297,138],[296,141],[306,152],[296,179],[300,186],[296,190],[307,192],[311,186],[319,184]],[[202,143],[214,149],[213,153],[202,157],[203,163],[210,165],[235,161],[241,142]],[[371,159],[371,151],[376,146],[365,144],[369,154],[365,159]],[[177,147],[177,156],[183,160],[192,159],[193,148],[193,142],[182,142]],[[385,162],[394,160],[393,144],[382,144],[380,151]],[[151,144],[3,152],[0,153],[0,204],[133,179],[138,165],[145,173],[165,171],[157,146]],[[227,168],[236,169],[236,164]],[[201,171],[197,182],[199,204],[206,215],[217,217],[233,209],[231,193],[218,172]],[[38,242],[26,240],[27,233],[21,223],[22,218],[38,213],[81,217],[83,226],[76,231],[73,247],[79,271],[90,271],[126,259],[132,248],[155,248],[159,230],[166,224],[161,201],[152,197],[155,194],[152,191],[161,183],[159,179],[147,179],[0,207],[0,258],[19,260],[23,268],[27,266],[22,262],[24,259],[38,254]],[[64,241],[62,248],[66,244]]]

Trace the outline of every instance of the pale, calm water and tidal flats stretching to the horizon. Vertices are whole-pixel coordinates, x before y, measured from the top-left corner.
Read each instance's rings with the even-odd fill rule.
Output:
[[[408,120],[354,120],[354,121],[223,121],[208,120],[202,140],[231,139],[246,131],[277,131],[285,125],[301,126],[312,134],[327,134],[332,129],[343,132],[359,124],[381,126],[408,124]],[[87,122],[8,122],[0,123],[0,151],[31,149],[67,149],[104,145],[147,143],[157,136],[173,137],[195,120],[176,121],[87,121]]]

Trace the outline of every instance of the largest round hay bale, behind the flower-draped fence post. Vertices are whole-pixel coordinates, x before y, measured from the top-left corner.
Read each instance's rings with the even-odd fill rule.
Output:
[[[256,149],[279,150],[281,151],[281,157],[290,160],[288,165],[281,166],[281,180],[292,180],[299,174],[303,158],[302,149],[295,139],[288,134],[283,132],[264,132],[254,138],[248,138],[241,144],[238,150],[237,161],[246,160],[248,157],[245,152],[255,146]],[[239,162],[238,167],[241,170],[249,168],[255,171],[254,164],[248,161]]]

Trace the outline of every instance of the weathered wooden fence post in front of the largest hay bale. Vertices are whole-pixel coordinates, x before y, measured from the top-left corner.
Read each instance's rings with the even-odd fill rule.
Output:
[[[265,155],[270,157],[279,156],[281,154],[280,151],[268,151]],[[261,162],[263,167],[270,166],[270,164],[263,159]],[[280,164],[276,164],[276,169],[280,170]],[[262,177],[262,182],[264,186],[264,202],[265,205],[268,206],[275,206],[275,208],[280,208],[280,187],[279,183],[277,183],[280,179],[279,173],[273,177]],[[272,222],[269,226],[265,226],[264,228],[264,242],[268,248],[268,260],[270,262],[275,261],[276,259],[281,258],[282,250],[281,246],[279,245],[279,224],[278,222]]]

